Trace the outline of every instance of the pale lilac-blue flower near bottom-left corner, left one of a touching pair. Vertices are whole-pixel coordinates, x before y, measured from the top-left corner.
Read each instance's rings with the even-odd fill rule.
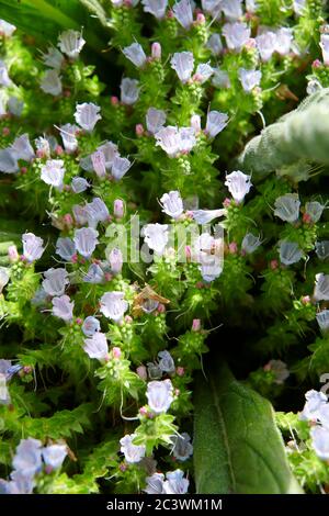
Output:
[[[42,469],[42,442],[38,439],[22,439],[13,461],[13,468],[23,476],[34,476]]]

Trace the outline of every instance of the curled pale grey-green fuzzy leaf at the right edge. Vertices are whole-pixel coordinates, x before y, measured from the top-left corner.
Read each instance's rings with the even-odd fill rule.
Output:
[[[328,133],[329,88],[324,88],[252,138],[237,166],[256,179],[272,171],[296,182],[308,179],[307,162],[329,164]]]

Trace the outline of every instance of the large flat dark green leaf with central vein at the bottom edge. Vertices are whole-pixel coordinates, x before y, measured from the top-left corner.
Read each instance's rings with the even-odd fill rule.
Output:
[[[216,363],[215,363],[216,366]],[[292,494],[293,476],[271,404],[226,366],[196,383],[194,467],[200,494]]]

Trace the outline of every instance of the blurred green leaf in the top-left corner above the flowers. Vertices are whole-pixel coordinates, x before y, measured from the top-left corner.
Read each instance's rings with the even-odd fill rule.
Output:
[[[0,18],[38,41],[53,43],[60,31],[83,26],[88,45],[98,53],[105,48],[105,33],[104,40],[99,34],[106,18],[98,0],[0,0]]]

